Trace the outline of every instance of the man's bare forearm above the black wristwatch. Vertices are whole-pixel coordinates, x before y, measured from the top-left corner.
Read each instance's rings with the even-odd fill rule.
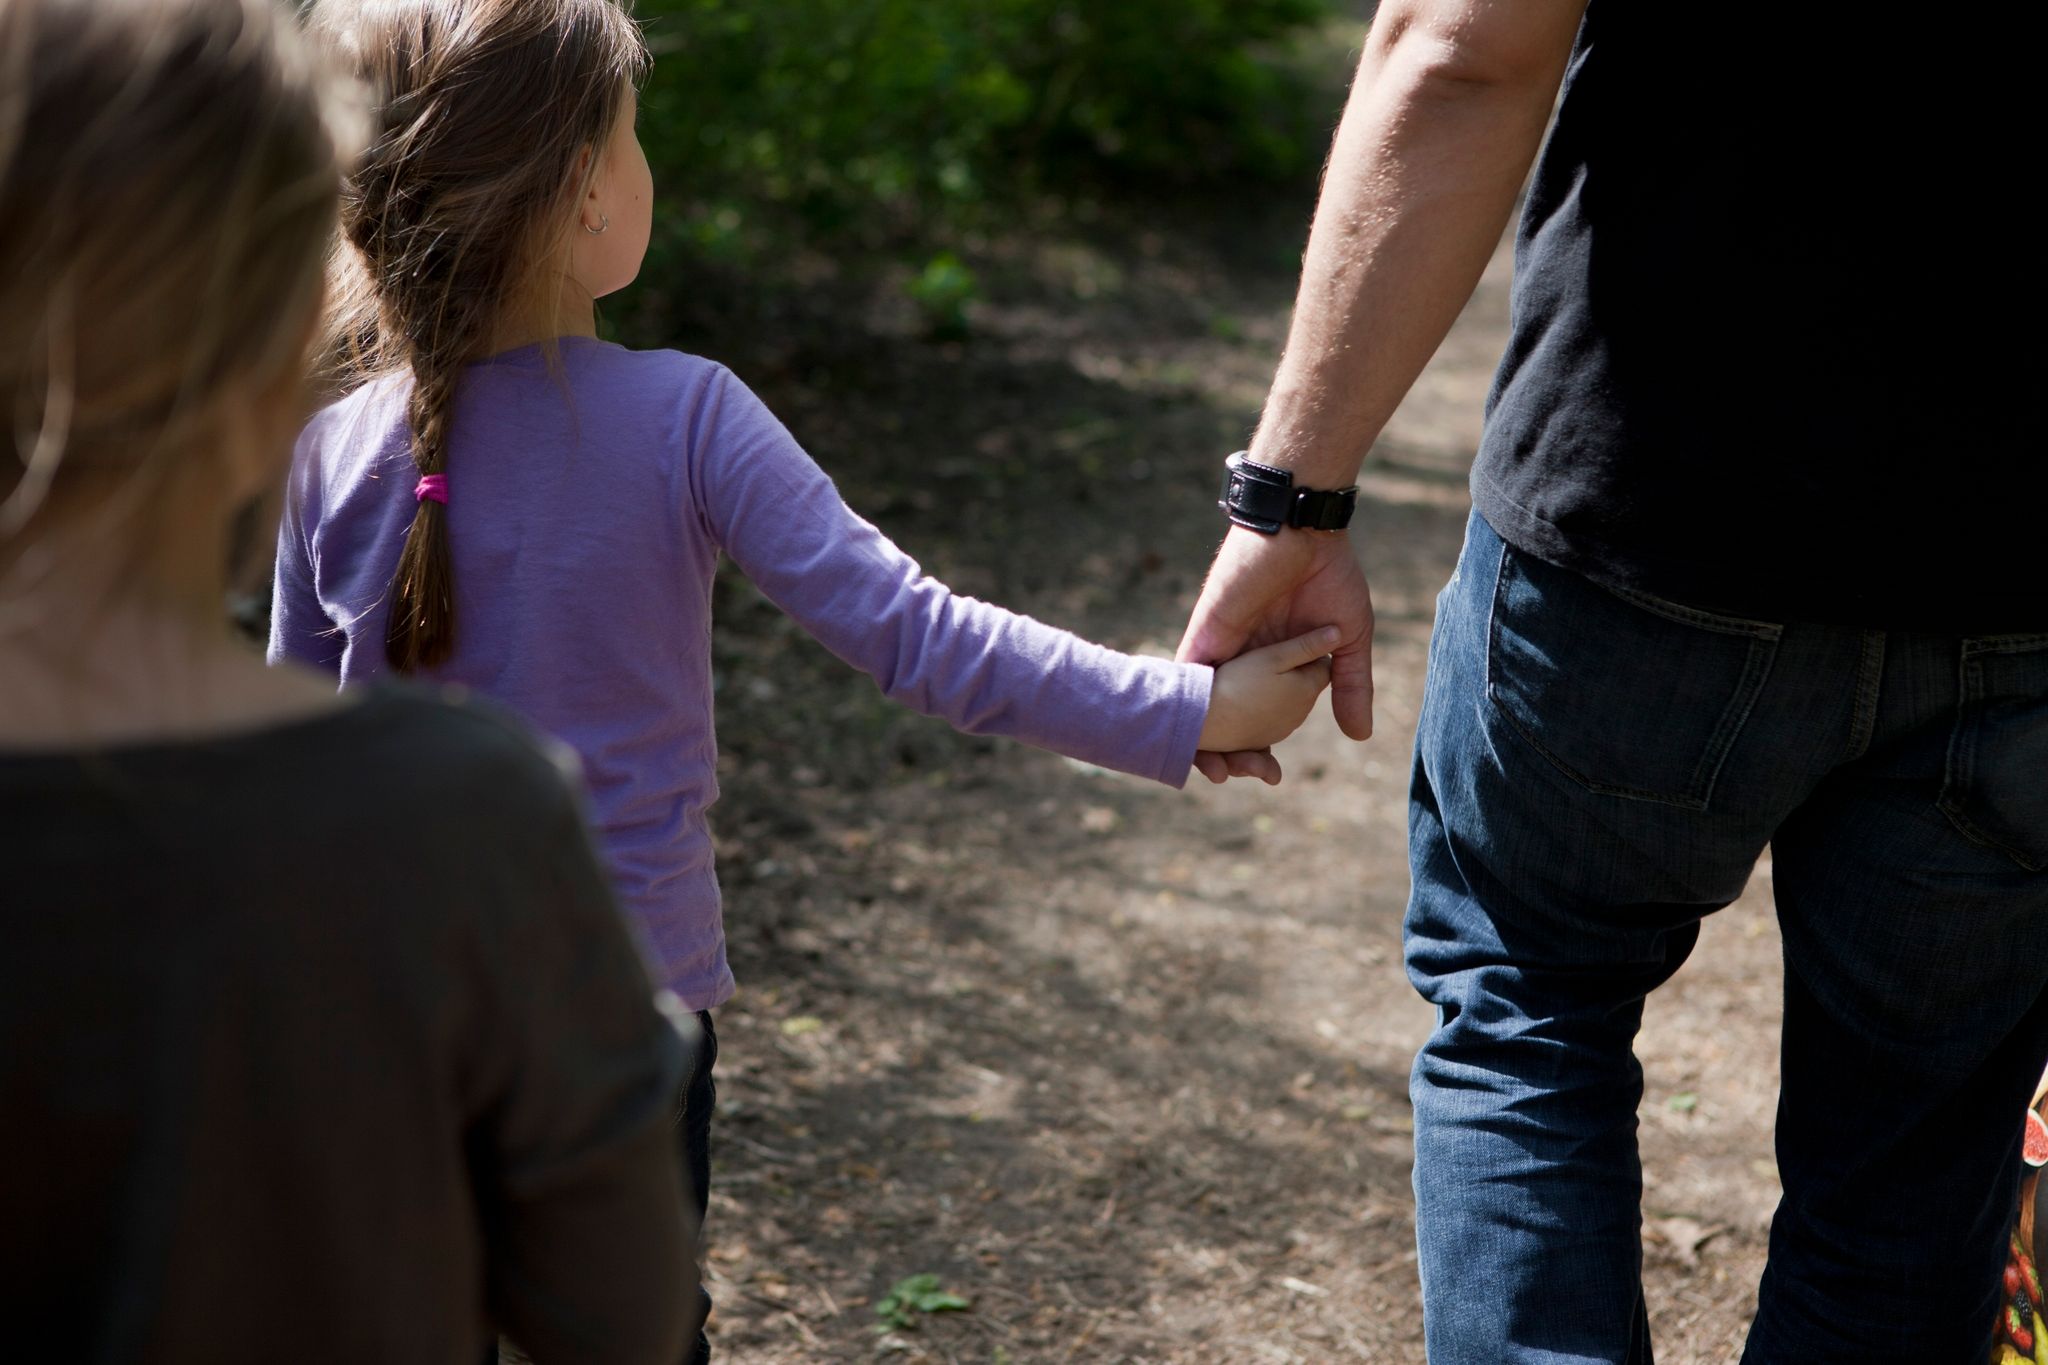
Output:
[[[1507,225],[1583,8],[1516,2],[1516,31],[1477,53],[1458,39],[1473,6],[1389,0],[1374,18],[1251,446],[1303,485],[1358,477]]]

